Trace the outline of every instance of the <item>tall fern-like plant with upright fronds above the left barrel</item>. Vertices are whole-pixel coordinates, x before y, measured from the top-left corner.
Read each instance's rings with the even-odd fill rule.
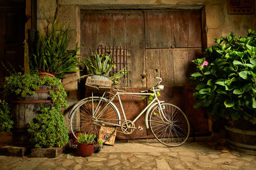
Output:
[[[36,54],[29,56],[29,68],[33,72],[40,72],[41,77],[49,75],[64,78],[66,73],[78,72],[80,49],[77,46],[67,50],[70,42],[70,27],[64,29],[57,21],[51,22],[45,35],[38,33]]]

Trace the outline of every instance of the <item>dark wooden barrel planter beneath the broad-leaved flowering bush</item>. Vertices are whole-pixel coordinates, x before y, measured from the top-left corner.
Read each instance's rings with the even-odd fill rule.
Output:
[[[230,148],[256,155],[256,125],[241,119],[227,123],[225,130]]]

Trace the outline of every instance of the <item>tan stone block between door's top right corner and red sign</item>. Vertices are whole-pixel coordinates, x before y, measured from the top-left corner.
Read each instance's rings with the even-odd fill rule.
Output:
[[[208,4],[205,6],[205,18],[208,28],[220,28],[223,25],[224,12],[221,4]]]

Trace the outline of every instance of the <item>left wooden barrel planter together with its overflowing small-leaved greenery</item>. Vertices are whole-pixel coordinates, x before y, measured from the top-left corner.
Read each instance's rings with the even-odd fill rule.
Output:
[[[61,146],[67,142],[68,133],[61,113],[62,108],[68,107],[67,93],[60,79],[48,76],[40,78],[37,74],[12,73],[10,77],[5,77],[3,89],[4,97],[12,104],[13,139],[18,144],[28,145],[31,139],[31,143],[36,148],[52,146],[52,144],[42,144],[43,139],[38,139],[38,135],[44,136],[42,134],[56,135],[55,141],[50,137],[44,139],[47,143],[54,143],[54,146]],[[47,117],[47,113],[51,115],[51,120]],[[45,118],[44,122],[42,117]],[[45,122],[51,126],[51,131],[47,131],[49,129],[45,127],[47,125],[42,126]],[[31,134],[30,137],[28,132]]]

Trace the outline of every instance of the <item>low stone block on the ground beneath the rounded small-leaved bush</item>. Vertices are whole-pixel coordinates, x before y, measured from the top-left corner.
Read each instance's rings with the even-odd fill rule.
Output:
[[[60,153],[63,152],[63,147],[61,148],[32,148],[30,157],[46,157],[46,158],[56,158]]]

